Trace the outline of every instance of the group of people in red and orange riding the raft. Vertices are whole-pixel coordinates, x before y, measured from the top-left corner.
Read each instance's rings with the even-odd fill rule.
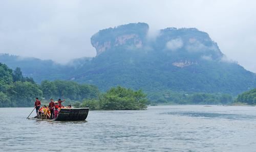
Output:
[[[51,102],[49,103],[49,106],[42,106],[40,100],[36,97],[35,98],[35,109],[36,109],[36,117],[39,118],[41,114],[44,114],[47,116],[47,119],[53,119],[56,118],[59,114],[60,109],[70,109],[72,108],[71,105],[65,107],[61,103],[65,102],[65,99],[61,100],[58,99],[58,101],[55,101],[51,98]]]

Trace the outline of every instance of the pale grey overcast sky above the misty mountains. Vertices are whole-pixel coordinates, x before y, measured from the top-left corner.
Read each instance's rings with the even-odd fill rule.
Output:
[[[221,51],[256,72],[256,1],[0,1],[0,53],[65,63],[93,57],[101,29],[146,22],[207,32]],[[1,61],[0,61],[1,62]]]

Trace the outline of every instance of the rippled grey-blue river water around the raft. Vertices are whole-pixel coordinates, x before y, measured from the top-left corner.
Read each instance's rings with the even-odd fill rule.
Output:
[[[32,110],[0,108],[0,151],[256,150],[256,107],[90,111],[80,122],[26,119]]]

